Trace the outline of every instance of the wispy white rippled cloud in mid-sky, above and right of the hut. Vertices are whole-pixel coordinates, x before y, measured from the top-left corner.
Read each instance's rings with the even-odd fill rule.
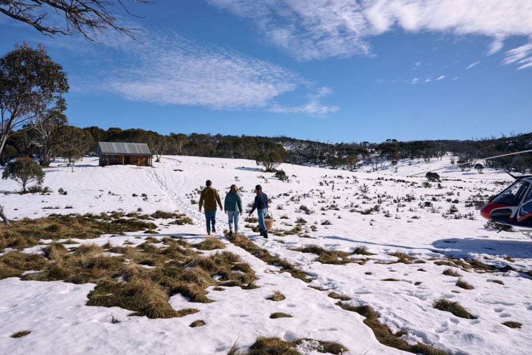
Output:
[[[311,93],[309,100],[294,108],[285,106],[286,112],[323,115],[338,110],[321,103],[329,89],[316,88],[292,70],[232,49],[149,31],[143,43],[105,36],[109,37],[101,43],[118,52],[121,61],[106,65],[97,89],[131,101],[280,112],[277,98],[302,89]]]

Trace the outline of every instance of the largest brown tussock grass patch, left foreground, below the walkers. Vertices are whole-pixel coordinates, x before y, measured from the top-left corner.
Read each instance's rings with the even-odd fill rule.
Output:
[[[169,298],[176,293],[190,302],[207,303],[212,302],[206,291],[210,286],[239,286],[245,290],[257,287],[253,284],[257,279],[254,271],[238,255],[223,251],[204,257],[180,238],[166,237],[162,247],[148,240],[137,247],[107,250],[121,254],[118,257],[98,255],[105,249],[94,244],[81,245],[70,253],[56,243],[45,249],[48,259],[19,251],[0,256],[0,278],[41,270],[22,280],[95,283],[88,295],[88,306],[121,307],[133,311],[131,315],[148,318],[182,317],[197,312],[193,308],[172,309]]]

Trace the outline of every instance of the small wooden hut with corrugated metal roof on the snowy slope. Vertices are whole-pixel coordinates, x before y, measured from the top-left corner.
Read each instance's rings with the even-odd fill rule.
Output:
[[[99,165],[137,165],[151,167],[153,154],[146,143],[98,142]]]

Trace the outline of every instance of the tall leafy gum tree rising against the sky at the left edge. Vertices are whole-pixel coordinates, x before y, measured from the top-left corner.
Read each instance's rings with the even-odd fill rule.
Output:
[[[7,138],[47,110],[63,112],[66,73],[46,49],[27,43],[0,58],[0,154]],[[29,127],[28,127],[29,128]]]

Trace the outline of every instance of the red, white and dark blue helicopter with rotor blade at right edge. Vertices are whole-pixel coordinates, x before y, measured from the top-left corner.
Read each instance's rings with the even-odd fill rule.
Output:
[[[502,155],[490,156],[484,159],[495,159],[501,156],[529,153],[532,150],[514,152]],[[477,160],[471,160],[456,166],[471,164]],[[430,170],[428,172],[446,169],[449,166]],[[426,171],[427,172],[427,171]],[[502,226],[516,227],[518,232],[532,237],[532,175],[514,176],[506,171],[511,177],[516,179],[513,184],[506,187],[500,194],[489,200],[481,209],[480,216],[496,222]],[[416,176],[423,174],[413,174]],[[498,232],[501,232],[501,228]],[[497,232],[497,233],[498,233]]]

